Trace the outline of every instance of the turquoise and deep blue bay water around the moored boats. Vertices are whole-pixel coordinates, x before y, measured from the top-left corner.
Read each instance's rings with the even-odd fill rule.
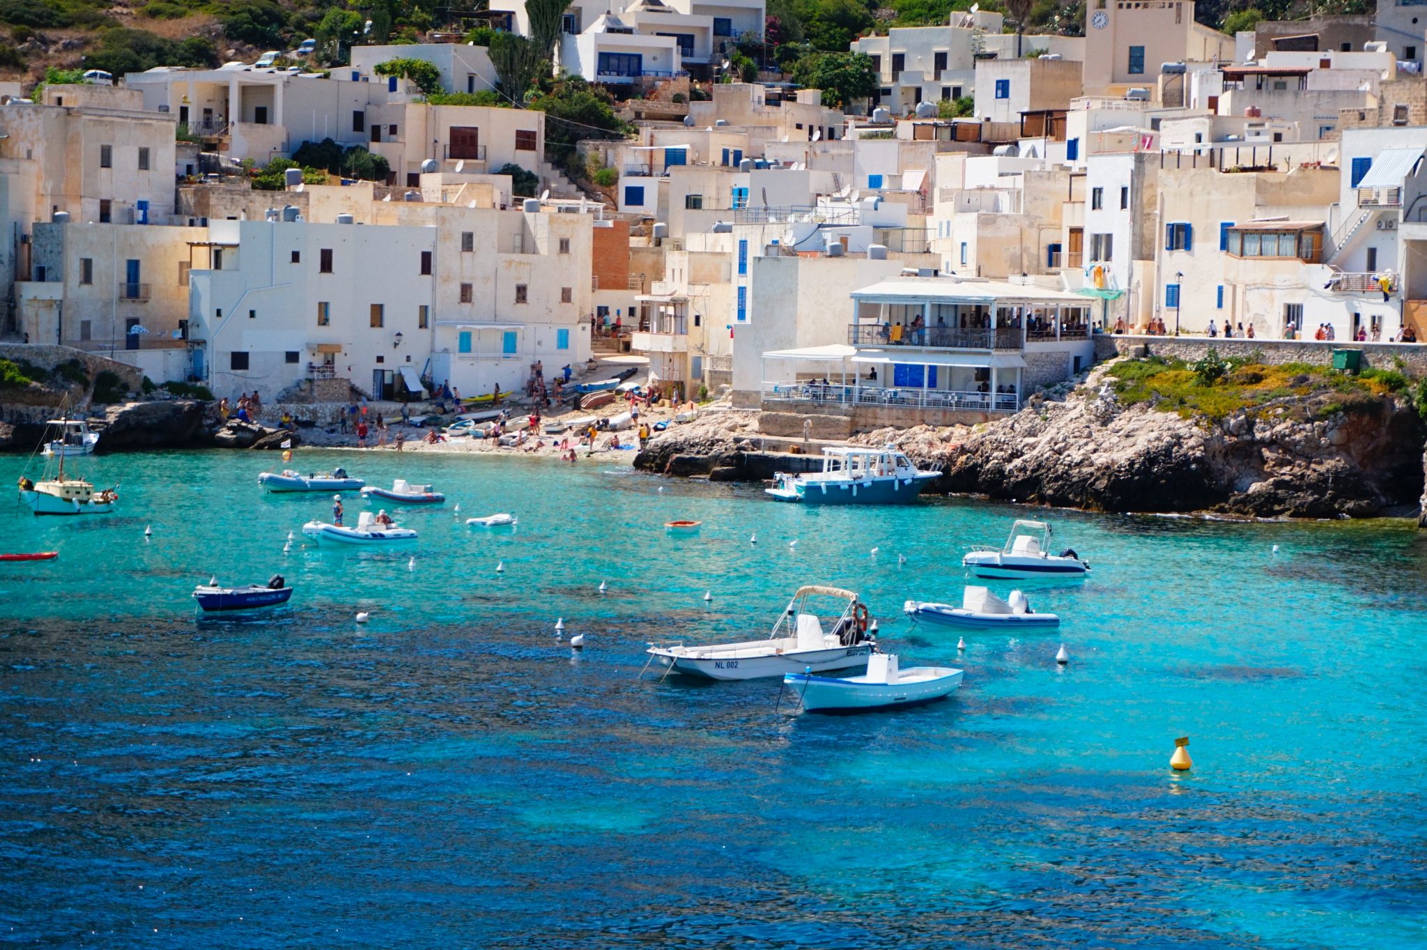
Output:
[[[0,940],[1427,946],[1427,533],[1053,512],[1095,565],[1030,592],[1062,633],[958,659],[900,605],[958,599],[962,546],[1023,509],[802,509],[598,459],[303,459],[334,462],[451,501],[407,516],[408,549],[298,533],[288,555],[330,498],[261,495],[273,455],[91,459],[121,481],[108,518],[0,505],[0,549],[61,551],[0,565]],[[495,511],[518,531],[464,526]],[[704,532],[666,538],[679,516]],[[195,620],[195,583],[274,572],[293,609]],[[885,648],[965,686],[791,717],[772,682],[635,678],[645,640],[762,632],[806,582],[859,591]],[[1174,777],[1179,735],[1196,767]]]

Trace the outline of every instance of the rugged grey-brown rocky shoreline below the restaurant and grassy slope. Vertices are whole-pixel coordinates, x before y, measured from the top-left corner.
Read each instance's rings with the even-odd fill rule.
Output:
[[[1222,419],[1122,405],[1097,369],[1082,387],[1032,397],[977,427],[882,429],[942,471],[930,491],[1110,512],[1214,512],[1244,518],[1417,516],[1424,425],[1398,395],[1286,397]],[[756,417],[712,415],[652,439],[635,466],[668,475],[759,481],[801,471],[802,454],[766,452]],[[816,452],[816,446],[812,446]]]

